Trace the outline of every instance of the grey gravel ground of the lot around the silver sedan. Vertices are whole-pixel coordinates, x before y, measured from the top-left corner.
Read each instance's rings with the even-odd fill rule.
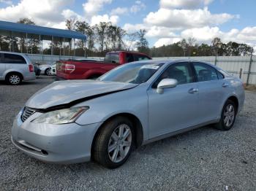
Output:
[[[256,93],[229,131],[198,128],[132,152],[109,170],[96,163],[52,165],[15,149],[12,120],[26,100],[53,82],[0,83],[0,190],[256,190]]]

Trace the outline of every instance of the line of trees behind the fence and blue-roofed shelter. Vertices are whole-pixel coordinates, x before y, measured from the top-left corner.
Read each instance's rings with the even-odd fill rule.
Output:
[[[21,18],[17,23],[35,25],[29,18]],[[119,26],[112,23],[100,22],[90,26],[86,21],[66,20],[68,30],[78,31],[87,36],[86,42],[76,40],[61,44],[53,41],[48,43],[48,47],[41,50],[40,41],[33,36],[29,39],[25,37],[0,36],[0,50],[14,52],[29,52],[50,55],[78,55],[83,56],[104,56],[106,52],[113,50],[137,50],[144,52],[151,57],[170,57],[170,56],[210,56],[210,55],[249,55],[253,48],[248,44],[239,44],[237,42],[223,43],[218,37],[211,41],[211,44],[198,44],[194,38],[182,39],[180,42],[163,45],[161,47],[148,47],[146,39],[147,31],[140,29],[133,33],[128,33]],[[75,44],[75,48],[74,48]],[[53,52],[51,52],[53,50]]]

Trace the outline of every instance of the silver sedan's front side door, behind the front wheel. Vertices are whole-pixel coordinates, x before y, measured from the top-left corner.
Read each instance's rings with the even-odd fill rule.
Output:
[[[177,79],[178,85],[159,94],[157,84],[164,78]],[[197,124],[197,83],[188,62],[167,67],[147,93],[150,139]]]

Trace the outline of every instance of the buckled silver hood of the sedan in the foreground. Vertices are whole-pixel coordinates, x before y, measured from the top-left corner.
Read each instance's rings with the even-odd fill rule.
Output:
[[[82,101],[109,93],[116,93],[136,87],[123,82],[102,82],[99,80],[65,80],[53,82],[31,96],[26,106],[34,109],[64,108]]]

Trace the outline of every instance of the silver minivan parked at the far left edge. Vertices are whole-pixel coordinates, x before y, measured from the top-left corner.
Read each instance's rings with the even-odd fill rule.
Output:
[[[0,51],[0,80],[10,85],[36,79],[34,66],[29,57],[15,52]]]

